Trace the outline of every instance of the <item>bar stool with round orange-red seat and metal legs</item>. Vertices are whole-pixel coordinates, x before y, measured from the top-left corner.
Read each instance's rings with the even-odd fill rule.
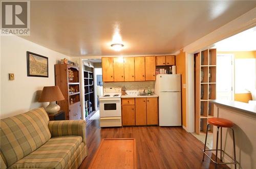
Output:
[[[206,141],[207,141],[207,134],[208,134],[208,127],[209,125],[217,126],[217,143],[216,143],[216,149],[208,149],[206,150]],[[204,143],[204,150],[203,150],[203,161],[204,161],[204,155],[206,155],[212,162],[215,163],[215,168],[217,168],[218,164],[234,164],[234,168],[237,168],[237,159],[236,159],[236,144],[234,143],[234,130],[233,130],[233,122],[227,120],[227,119],[222,119],[222,118],[209,118],[208,119],[208,124],[207,124],[207,131],[206,131],[206,136],[205,136],[205,143]],[[230,128],[233,133],[233,148],[234,148],[234,158],[231,157],[229,154],[227,154],[224,150],[222,150],[222,127]],[[221,149],[218,149],[218,139],[219,139],[219,129],[221,128]],[[215,160],[211,159],[205,151],[216,151],[216,157]],[[223,159],[222,157],[222,152],[223,154],[226,154],[229,156],[234,162],[217,162],[218,159],[218,151],[221,153],[221,161]]]

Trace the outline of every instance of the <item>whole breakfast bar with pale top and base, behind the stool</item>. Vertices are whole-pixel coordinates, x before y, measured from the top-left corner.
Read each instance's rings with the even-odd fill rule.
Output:
[[[256,168],[256,106],[227,100],[211,100],[209,103],[214,104],[214,117],[224,118],[234,123],[238,167],[241,165],[241,168]],[[214,148],[216,147],[216,136],[217,128],[214,127]],[[222,136],[223,150],[233,156],[231,130],[223,128]],[[231,159],[224,156],[223,161],[230,162]],[[234,168],[233,165],[229,165],[229,167]]]

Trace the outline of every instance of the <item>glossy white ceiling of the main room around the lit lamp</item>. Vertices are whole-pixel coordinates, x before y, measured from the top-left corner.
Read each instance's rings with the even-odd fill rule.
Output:
[[[174,53],[256,1],[31,1],[27,40],[71,57]],[[115,25],[124,49],[110,48]]]

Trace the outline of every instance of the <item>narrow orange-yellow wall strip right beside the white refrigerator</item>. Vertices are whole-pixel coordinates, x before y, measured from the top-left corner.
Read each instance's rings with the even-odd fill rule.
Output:
[[[186,84],[186,55],[181,51],[176,55],[177,74],[181,74],[181,97],[182,97],[182,125],[186,127],[186,89],[183,84]]]

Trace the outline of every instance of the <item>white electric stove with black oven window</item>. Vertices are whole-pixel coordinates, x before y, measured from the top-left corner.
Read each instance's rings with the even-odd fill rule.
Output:
[[[119,86],[103,87],[103,96],[99,97],[100,127],[122,126],[121,94]]]

